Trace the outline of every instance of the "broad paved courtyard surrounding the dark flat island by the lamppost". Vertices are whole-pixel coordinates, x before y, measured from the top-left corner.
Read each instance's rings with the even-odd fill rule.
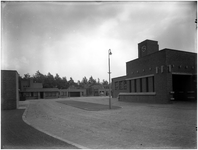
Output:
[[[64,104],[108,105],[108,97],[29,100],[23,120],[79,148],[197,148],[197,104],[141,104],[112,99],[119,109],[89,111]],[[23,104],[24,103],[24,104]]]

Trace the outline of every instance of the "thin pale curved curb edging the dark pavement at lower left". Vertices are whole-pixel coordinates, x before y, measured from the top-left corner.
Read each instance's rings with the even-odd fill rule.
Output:
[[[27,114],[27,110],[28,110],[28,108],[29,108],[29,105],[30,105],[30,103],[29,103],[28,106],[25,108],[25,111],[24,111],[23,116],[22,116],[22,119],[23,119],[23,121],[24,121],[26,124],[28,124],[29,126],[35,128],[36,130],[38,130],[38,131],[40,131],[40,132],[43,132],[43,133],[45,133],[45,134],[47,134],[47,135],[49,135],[49,136],[51,136],[51,137],[53,137],[53,138],[56,138],[56,139],[58,139],[58,140],[61,140],[61,141],[66,142],[66,143],[68,143],[68,144],[71,144],[71,145],[73,145],[73,146],[76,146],[76,147],[78,147],[78,148],[80,148],[80,149],[89,149],[89,148],[87,148],[87,147],[84,147],[84,146],[79,145],[79,144],[77,144],[77,143],[74,143],[74,142],[65,140],[65,139],[63,139],[63,138],[61,138],[61,137],[58,137],[58,136],[56,136],[56,135],[53,135],[53,134],[51,134],[51,133],[49,133],[49,132],[47,132],[47,131],[44,131],[44,130],[38,128],[38,127],[34,127],[33,125],[31,125],[31,124],[26,120],[26,114]]]

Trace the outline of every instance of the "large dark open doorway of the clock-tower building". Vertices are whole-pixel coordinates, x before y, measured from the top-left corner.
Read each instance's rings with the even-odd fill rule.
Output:
[[[196,76],[173,75],[173,91],[175,101],[196,101]]]

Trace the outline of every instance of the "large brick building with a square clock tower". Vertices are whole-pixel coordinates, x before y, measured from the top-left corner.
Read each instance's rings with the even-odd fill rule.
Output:
[[[138,58],[126,62],[126,75],[112,79],[112,96],[146,103],[196,101],[196,62],[196,53],[159,51],[157,41],[145,40],[138,44]]]

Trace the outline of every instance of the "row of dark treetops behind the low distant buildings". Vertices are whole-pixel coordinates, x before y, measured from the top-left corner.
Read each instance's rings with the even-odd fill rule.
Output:
[[[81,81],[78,80],[77,82],[75,82],[72,79],[72,77],[70,77],[70,79],[67,80],[66,77],[60,77],[57,73],[55,76],[53,76],[51,73],[44,75],[41,72],[37,71],[32,77],[29,75],[29,73],[27,73],[24,74],[24,77],[19,76],[19,78],[20,80],[33,78],[33,82],[42,83],[43,88],[79,89],[79,88],[87,88],[92,85],[103,85],[106,88],[109,87],[108,81],[103,79],[102,82],[100,82],[99,78],[96,80],[92,76],[89,79],[84,77]]]

